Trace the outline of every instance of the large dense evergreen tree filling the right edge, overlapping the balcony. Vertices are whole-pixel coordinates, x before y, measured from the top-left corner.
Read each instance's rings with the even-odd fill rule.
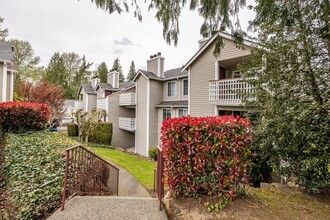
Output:
[[[263,46],[241,65],[256,88],[245,104],[259,115],[254,128],[257,152],[312,192],[330,189],[326,2],[259,1],[252,24]]]

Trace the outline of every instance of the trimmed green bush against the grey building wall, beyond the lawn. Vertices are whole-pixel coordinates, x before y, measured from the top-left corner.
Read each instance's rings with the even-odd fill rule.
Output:
[[[111,144],[112,140],[112,123],[100,122],[100,124],[91,131],[89,142],[98,144]]]

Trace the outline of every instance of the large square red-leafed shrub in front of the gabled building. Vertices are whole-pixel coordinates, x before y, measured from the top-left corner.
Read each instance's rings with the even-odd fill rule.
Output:
[[[249,183],[251,124],[233,116],[181,117],[163,122],[165,183],[177,195],[232,199]]]

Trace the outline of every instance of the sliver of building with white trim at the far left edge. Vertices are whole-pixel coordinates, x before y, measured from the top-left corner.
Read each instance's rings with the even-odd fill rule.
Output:
[[[0,102],[13,101],[14,74],[16,72],[14,47],[0,41]]]

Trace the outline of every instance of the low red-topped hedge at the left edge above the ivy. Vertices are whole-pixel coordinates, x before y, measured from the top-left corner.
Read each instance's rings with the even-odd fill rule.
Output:
[[[31,102],[0,103],[0,127],[4,132],[41,130],[50,119],[47,104]]]

